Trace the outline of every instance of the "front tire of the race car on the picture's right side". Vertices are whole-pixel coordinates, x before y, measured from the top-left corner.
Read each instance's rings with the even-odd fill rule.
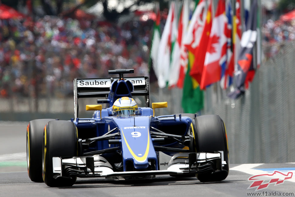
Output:
[[[222,181],[228,176],[229,155],[226,129],[218,115],[202,115],[192,121],[196,152],[222,151],[226,164],[222,170],[213,173],[196,174],[201,182]]]

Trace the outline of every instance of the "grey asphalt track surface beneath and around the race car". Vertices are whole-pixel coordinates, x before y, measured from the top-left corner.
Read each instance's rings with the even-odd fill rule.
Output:
[[[168,175],[136,181],[78,178],[72,187],[51,188],[28,177],[26,126],[26,122],[0,122],[0,196],[294,196],[295,193],[295,163],[231,164],[227,179],[221,182],[202,183],[195,177]],[[254,181],[248,179],[254,175],[263,182],[249,188]],[[264,184],[266,188],[257,190]]]

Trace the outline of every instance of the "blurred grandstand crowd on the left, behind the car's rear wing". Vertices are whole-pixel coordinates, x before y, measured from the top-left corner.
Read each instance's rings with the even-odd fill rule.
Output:
[[[148,75],[152,25],[55,16],[0,20],[0,97],[71,96],[74,78],[108,77],[111,69]]]

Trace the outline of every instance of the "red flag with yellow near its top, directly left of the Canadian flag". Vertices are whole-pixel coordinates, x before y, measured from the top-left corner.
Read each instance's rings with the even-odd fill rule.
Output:
[[[206,48],[208,46],[208,41],[209,41],[209,36],[210,36],[210,31],[212,26],[211,14],[212,14],[212,5],[210,1],[209,8],[206,14],[205,25],[202,32],[202,36],[201,36],[199,45],[194,53],[195,61],[190,71],[190,75],[193,78],[195,78],[199,84],[201,83],[201,77],[202,77],[202,72],[203,72],[203,67],[205,62]]]

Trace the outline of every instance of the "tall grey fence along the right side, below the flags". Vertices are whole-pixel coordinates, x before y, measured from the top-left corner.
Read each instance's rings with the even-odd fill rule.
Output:
[[[225,122],[231,163],[295,162],[295,43],[280,43],[273,58],[257,70],[249,89],[229,99],[219,83],[204,92],[199,115],[217,114]],[[180,89],[154,93],[168,101],[161,113],[179,113]]]

